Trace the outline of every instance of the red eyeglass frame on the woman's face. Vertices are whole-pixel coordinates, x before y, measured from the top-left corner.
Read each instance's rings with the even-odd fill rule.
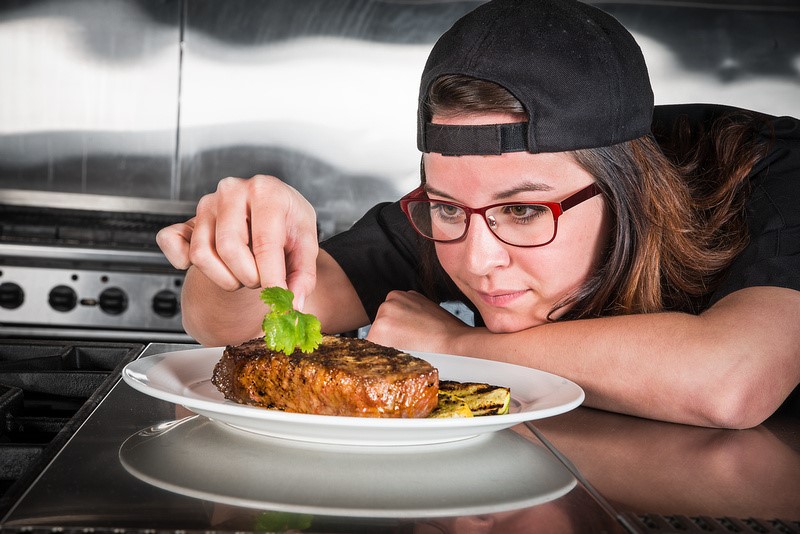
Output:
[[[469,224],[472,220],[472,215],[477,214],[480,215],[481,218],[486,222],[486,226],[489,228],[489,231],[492,232],[492,235],[495,236],[499,241],[505,243],[506,245],[510,245],[512,247],[520,247],[520,248],[536,248],[536,247],[543,247],[545,245],[549,245],[552,243],[556,235],[558,234],[558,218],[561,217],[565,211],[568,209],[574,208],[578,204],[586,202],[590,198],[594,198],[597,195],[601,195],[603,192],[600,190],[600,187],[597,183],[592,182],[591,184],[587,185],[583,189],[571,194],[564,200],[560,202],[539,202],[539,201],[525,201],[525,202],[498,202],[496,204],[489,204],[488,206],[483,206],[481,208],[471,208],[464,204],[459,204],[458,202],[451,202],[449,200],[432,200],[428,198],[428,194],[425,192],[425,184],[420,185],[410,193],[406,194],[400,199],[400,209],[406,215],[408,222],[411,224],[411,228],[419,234],[420,236],[428,239],[429,241],[434,241],[436,243],[457,243],[459,241],[463,241],[467,237],[467,232],[469,232]],[[437,202],[439,204],[445,204],[447,206],[453,206],[459,208],[466,213],[465,223],[464,223],[464,233],[461,234],[460,237],[455,239],[436,239],[434,237],[429,237],[423,234],[417,225],[414,223],[414,220],[411,218],[411,211],[408,208],[408,205],[412,202]],[[497,233],[492,230],[492,223],[486,217],[486,212],[492,208],[497,208],[500,206],[545,206],[550,210],[550,213],[553,214],[553,237],[550,238],[549,241],[546,243],[540,243],[538,245],[516,245],[514,243],[509,243]]]

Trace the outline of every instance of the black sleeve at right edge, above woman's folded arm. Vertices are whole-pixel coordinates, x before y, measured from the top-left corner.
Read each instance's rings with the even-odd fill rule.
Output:
[[[772,118],[763,135],[772,149],[751,172],[750,242],[728,267],[709,305],[746,287],[800,291],[800,121]]]

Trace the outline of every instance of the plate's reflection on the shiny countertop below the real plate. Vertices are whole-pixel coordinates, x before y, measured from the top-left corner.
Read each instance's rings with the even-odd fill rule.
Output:
[[[443,517],[543,504],[576,485],[549,451],[513,430],[425,447],[322,446],[192,416],[120,447],[123,467],[161,489],[301,514]]]

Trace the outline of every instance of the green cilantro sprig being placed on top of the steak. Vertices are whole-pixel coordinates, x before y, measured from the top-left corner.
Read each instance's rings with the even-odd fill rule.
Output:
[[[282,287],[267,287],[261,291],[261,300],[270,307],[261,328],[264,341],[270,350],[291,354],[296,348],[312,352],[322,341],[322,325],[310,313],[292,307],[294,293]]]

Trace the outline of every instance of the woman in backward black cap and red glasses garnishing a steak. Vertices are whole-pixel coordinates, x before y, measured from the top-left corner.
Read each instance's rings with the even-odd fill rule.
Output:
[[[191,266],[187,331],[255,337],[258,288],[287,285],[327,332],[371,323],[384,345],[551,371],[618,412],[744,428],[797,387],[797,121],[707,107],[654,120],[630,34],[548,0],[458,21],[419,110],[421,188],[321,250],[308,202],[263,176],[223,180],[162,231]],[[452,299],[481,326],[438,305]]]

